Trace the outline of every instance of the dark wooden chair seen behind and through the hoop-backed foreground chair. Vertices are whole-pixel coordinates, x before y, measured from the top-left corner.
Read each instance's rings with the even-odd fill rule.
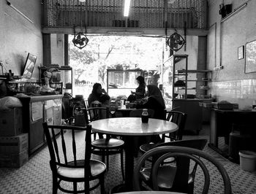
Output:
[[[165,142],[161,144],[151,144],[154,147],[163,147],[163,146],[179,146],[179,147],[190,147],[197,150],[203,150],[203,148],[206,146],[207,139],[189,139],[189,140],[178,140],[178,141],[170,141]],[[153,149],[154,147],[151,147]],[[148,149],[148,147],[146,147]],[[151,150],[150,149],[150,150]],[[146,152],[149,150],[146,150]],[[148,160],[152,161],[151,158],[148,158]],[[172,158],[172,160],[168,160],[167,162],[163,164],[170,164],[176,162],[175,158]],[[194,190],[194,182],[195,182],[195,172],[197,170],[197,164],[192,168],[192,172],[189,173],[189,178],[187,182],[187,193],[193,193]],[[161,177],[159,179],[159,187],[162,190],[170,190],[173,183],[173,177],[174,172],[176,171],[176,168],[173,166],[160,166],[159,167],[159,174],[158,176]],[[147,183],[147,185],[151,185],[151,168],[143,168],[143,171],[141,172],[141,177],[143,177],[143,181]]]

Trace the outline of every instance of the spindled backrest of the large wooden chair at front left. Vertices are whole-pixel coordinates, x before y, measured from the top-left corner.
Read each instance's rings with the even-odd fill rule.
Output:
[[[70,125],[48,125],[42,123],[50,152],[50,168],[57,173],[58,166],[67,168],[84,168],[85,188],[89,190],[91,176],[91,125],[86,127]],[[60,130],[60,139],[54,129]],[[79,131],[79,132],[78,132]],[[85,132],[85,133],[84,133]],[[67,133],[70,133],[67,135]],[[75,135],[75,133],[80,133]],[[85,139],[83,135],[85,135]],[[78,152],[78,149],[80,152]],[[83,152],[83,155],[81,155]]]

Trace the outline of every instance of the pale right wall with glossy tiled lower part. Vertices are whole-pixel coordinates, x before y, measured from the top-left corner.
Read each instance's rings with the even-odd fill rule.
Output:
[[[227,100],[244,107],[256,99],[256,73],[244,73],[245,58],[238,60],[238,47],[256,39],[256,1],[225,0],[232,11],[247,2],[247,6],[222,21],[219,4],[222,0],[208,1],[209,31],[207,66],[213,70],[211,93],[218,101]],[[214,71],[215,66],[224,69]]]

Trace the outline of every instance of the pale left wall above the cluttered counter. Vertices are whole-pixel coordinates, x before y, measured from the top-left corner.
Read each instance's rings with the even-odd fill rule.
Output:
[[[42,63],[41,2],[10,2],[33,21],[26,20],[7,5],[6,0],[0,0],[0,61],[3,61],[4,71],[11,69],[15,75],[20,75],[28,53],[37,55],[37,66]],[[32,77],[38,79],[37,68]]]

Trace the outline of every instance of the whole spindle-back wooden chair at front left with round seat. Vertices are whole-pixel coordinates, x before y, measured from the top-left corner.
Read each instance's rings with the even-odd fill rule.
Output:
[[[89,193],[90,190],[94,190],[99,185],[101,193],[105,193],[105,163],[91,159],[91,125],[86,127],[48,125],[47,123],[42,125],[50,152],[53,193],[57,193],[58,189],[66,193]],[[57,139],[54,132],[56,128],[60,130],[60,139]],[[78,131],[79,134],[75,135]],[[85,134],[86,139],[83,139],[80,133]],[[84,150],[81,149],[81,145],[83,145]],[[84,155],[80,155],[78,149],[81,149]],[[99,179],[97,185],[90,187],[90,182],[96,179]],[[64,185],[61,184],[63,181],[72,182],[73,190],[64,188]],[[78,182],[84,182],[83,190],[78,190]]]

